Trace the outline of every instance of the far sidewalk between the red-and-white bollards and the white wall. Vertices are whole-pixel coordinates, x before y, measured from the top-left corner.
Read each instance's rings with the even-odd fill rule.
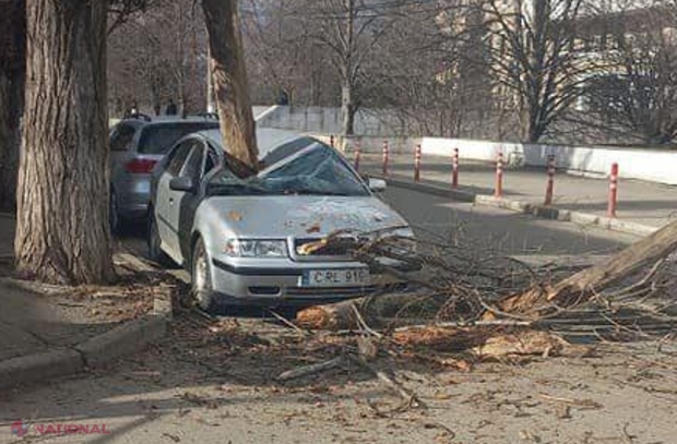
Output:
[[[351,154],[348,154],[351,156]],[[364,154],[360,169],[381,172],[381,156]],[[486,163],[461,160],[459,190],[475,194],[494,194],[496,166]],[[391,156],[389,173],[396,179],[414,178],[414,159],[409,155]],[[424,156],[421,182],[450,187],[451,159]],[[504,167],[503,196],[506,199],[543,205],[547,176],[542,169]],[[553,205],[572,212],[606,216],[609,182],[606,178],[592,179],[558,171],[555,177]],[[662,227],[677,218],[677,187],[660,183],[623,180],[622,169],[618,185],[617,218],[622,221]]]

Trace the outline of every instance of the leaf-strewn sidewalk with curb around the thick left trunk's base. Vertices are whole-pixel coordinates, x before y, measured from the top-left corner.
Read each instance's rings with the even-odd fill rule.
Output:
[[[0,214],[0,389],[103,367],[164,335],[161,292],[138,272],[86,288],[12,278],[14,225]]]

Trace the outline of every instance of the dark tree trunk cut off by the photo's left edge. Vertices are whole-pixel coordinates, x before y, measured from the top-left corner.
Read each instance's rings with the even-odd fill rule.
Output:
[[[0,15],[0,209],[14,209],[24,106],[25,0],[11,0]]]

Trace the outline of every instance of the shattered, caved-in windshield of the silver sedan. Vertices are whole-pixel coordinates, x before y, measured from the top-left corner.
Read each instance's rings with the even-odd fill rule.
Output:
[[[364,196],[368,189],[330,146],[311,146],[278,159],[249,179],[224,169],[210,181],[211,194],[304,194]]]

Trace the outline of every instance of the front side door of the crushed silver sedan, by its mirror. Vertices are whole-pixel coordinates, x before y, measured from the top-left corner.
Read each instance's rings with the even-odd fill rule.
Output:
[[[194,211],[199,201],[199,185],[204,166],[204,144],[193,140],[181,171],[177,177],[190,178],[195,185],[193,191],[171,190],[167,187],[167,237],[168,253],[179,264],[188,259],[186,243],[190,238]]]

